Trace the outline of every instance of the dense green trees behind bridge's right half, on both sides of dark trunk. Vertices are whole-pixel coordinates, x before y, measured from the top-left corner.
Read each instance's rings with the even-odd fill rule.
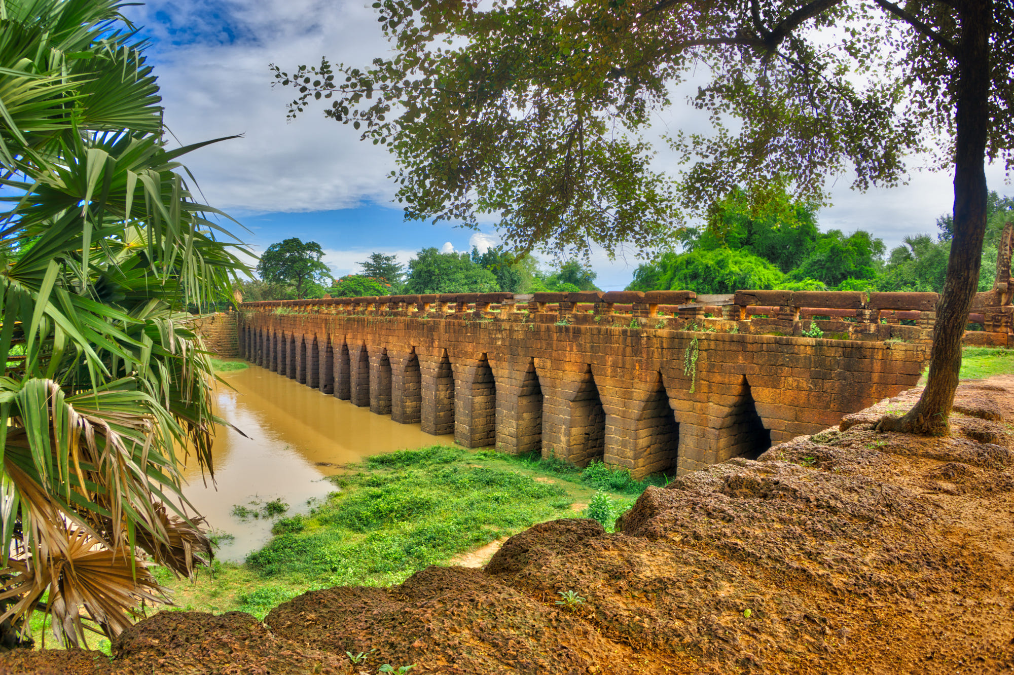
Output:
[[[1014,221],[1014,200],[990,194],[991,212],[983,247],[979,291],[996,278],[997,246],[1004,223]],[[811,207],[790,204],[778,213],[751,213],[734,191],[720,203],[706,228],[690,231],[685,252],[665,252],[638,267],[629,290],[738,289],[839,291],[930,291],[942,293],[951,242],[945,217],[939,240],[910,235],[885,256],[880,239],[857,230],[819,232]]]

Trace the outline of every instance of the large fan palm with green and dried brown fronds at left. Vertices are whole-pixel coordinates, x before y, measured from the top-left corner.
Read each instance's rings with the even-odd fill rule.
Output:
[[[41,610],[65,644],[165,601],[149,562],[210,558],[179,453],[213,477],[213,371],[185,309],[245,272],[119,7],[0,2],[0,622]]]

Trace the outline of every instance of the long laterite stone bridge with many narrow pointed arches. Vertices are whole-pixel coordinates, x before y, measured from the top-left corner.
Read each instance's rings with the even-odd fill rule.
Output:
[[[764,306],[765,293],[781,293],[778,306],[745,319],[747,308]],[[238,343],[257,365],[394,422],[453,433],[465,447],[537,450],[578,465],[600,459],[640,477],[755,457],[916,384],[929,352],[925,328],[883,324],[863,300],[858,318],[816,321],[862,340],[793,336],[803,323],[799,303],[834,313],[861,294],[798,296],[796,305],[791,295],[244,303]],[[926,301],[895,298],[883,311],[914,305],[909,311],[918,314]],[[756,334],[762,329],[769,334]],[[913,342],[883,341],[897,331]]]

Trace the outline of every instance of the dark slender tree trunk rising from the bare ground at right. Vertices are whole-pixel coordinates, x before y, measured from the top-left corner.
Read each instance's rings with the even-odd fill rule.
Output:
[[[989,132],[990,41],[992,0],[958,3],[961,42],[958,47],[955,111],[954,238],[947,260],[947,280],[937,305],[933,355],[926,389],[901,418],[885,417],[880,431],[942,436],[954,403],[961,369],[961,336],[979,288],[986,234],[986,142]]]

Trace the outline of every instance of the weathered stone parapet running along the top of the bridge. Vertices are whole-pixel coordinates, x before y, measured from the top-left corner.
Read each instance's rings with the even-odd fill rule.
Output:
[[[976,295],[969,322],[982,324],[984,330],[967,333],[966,342],[993,346],[1014,342],[1014,307],[1009,295],[996,291]],[[540,323],[604,321],[606,325],[648,330],[705,328],[797,336],[812,322],[830,340],[928,342],[938,299],[936,293],[742,290],[699,297],[693,291],[595,291],[271,300],[242,303],[241,308],[258,313],[371,313],[427,319],[469,316]]]

